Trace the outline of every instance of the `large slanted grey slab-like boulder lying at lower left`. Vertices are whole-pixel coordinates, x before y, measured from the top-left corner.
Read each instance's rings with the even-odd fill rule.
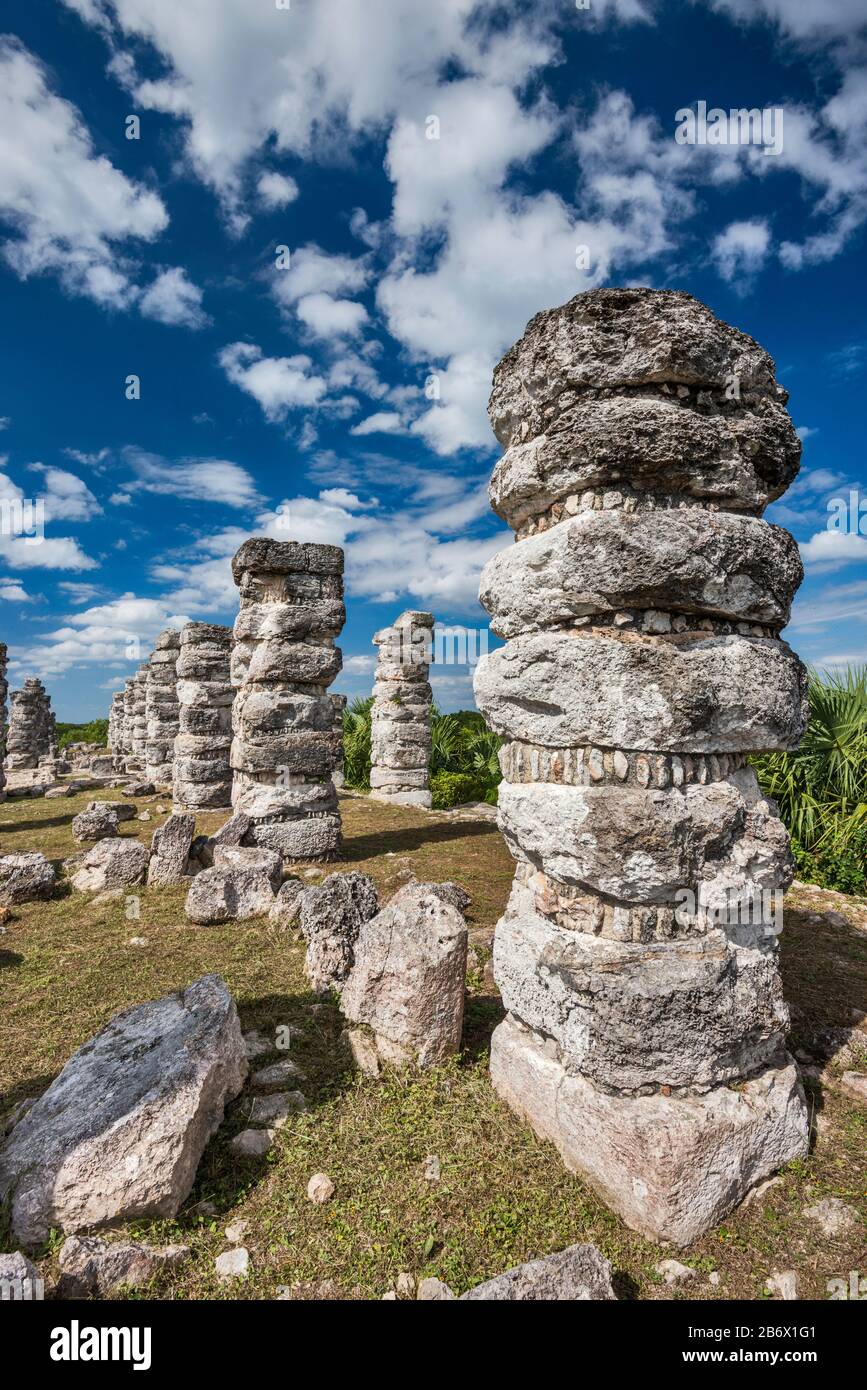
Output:
[[[176,1216],[246,1074],[235,1001],[217,974],[117,1013],[0,1151],[15,1238],[26,1248],[53,1227]]]

